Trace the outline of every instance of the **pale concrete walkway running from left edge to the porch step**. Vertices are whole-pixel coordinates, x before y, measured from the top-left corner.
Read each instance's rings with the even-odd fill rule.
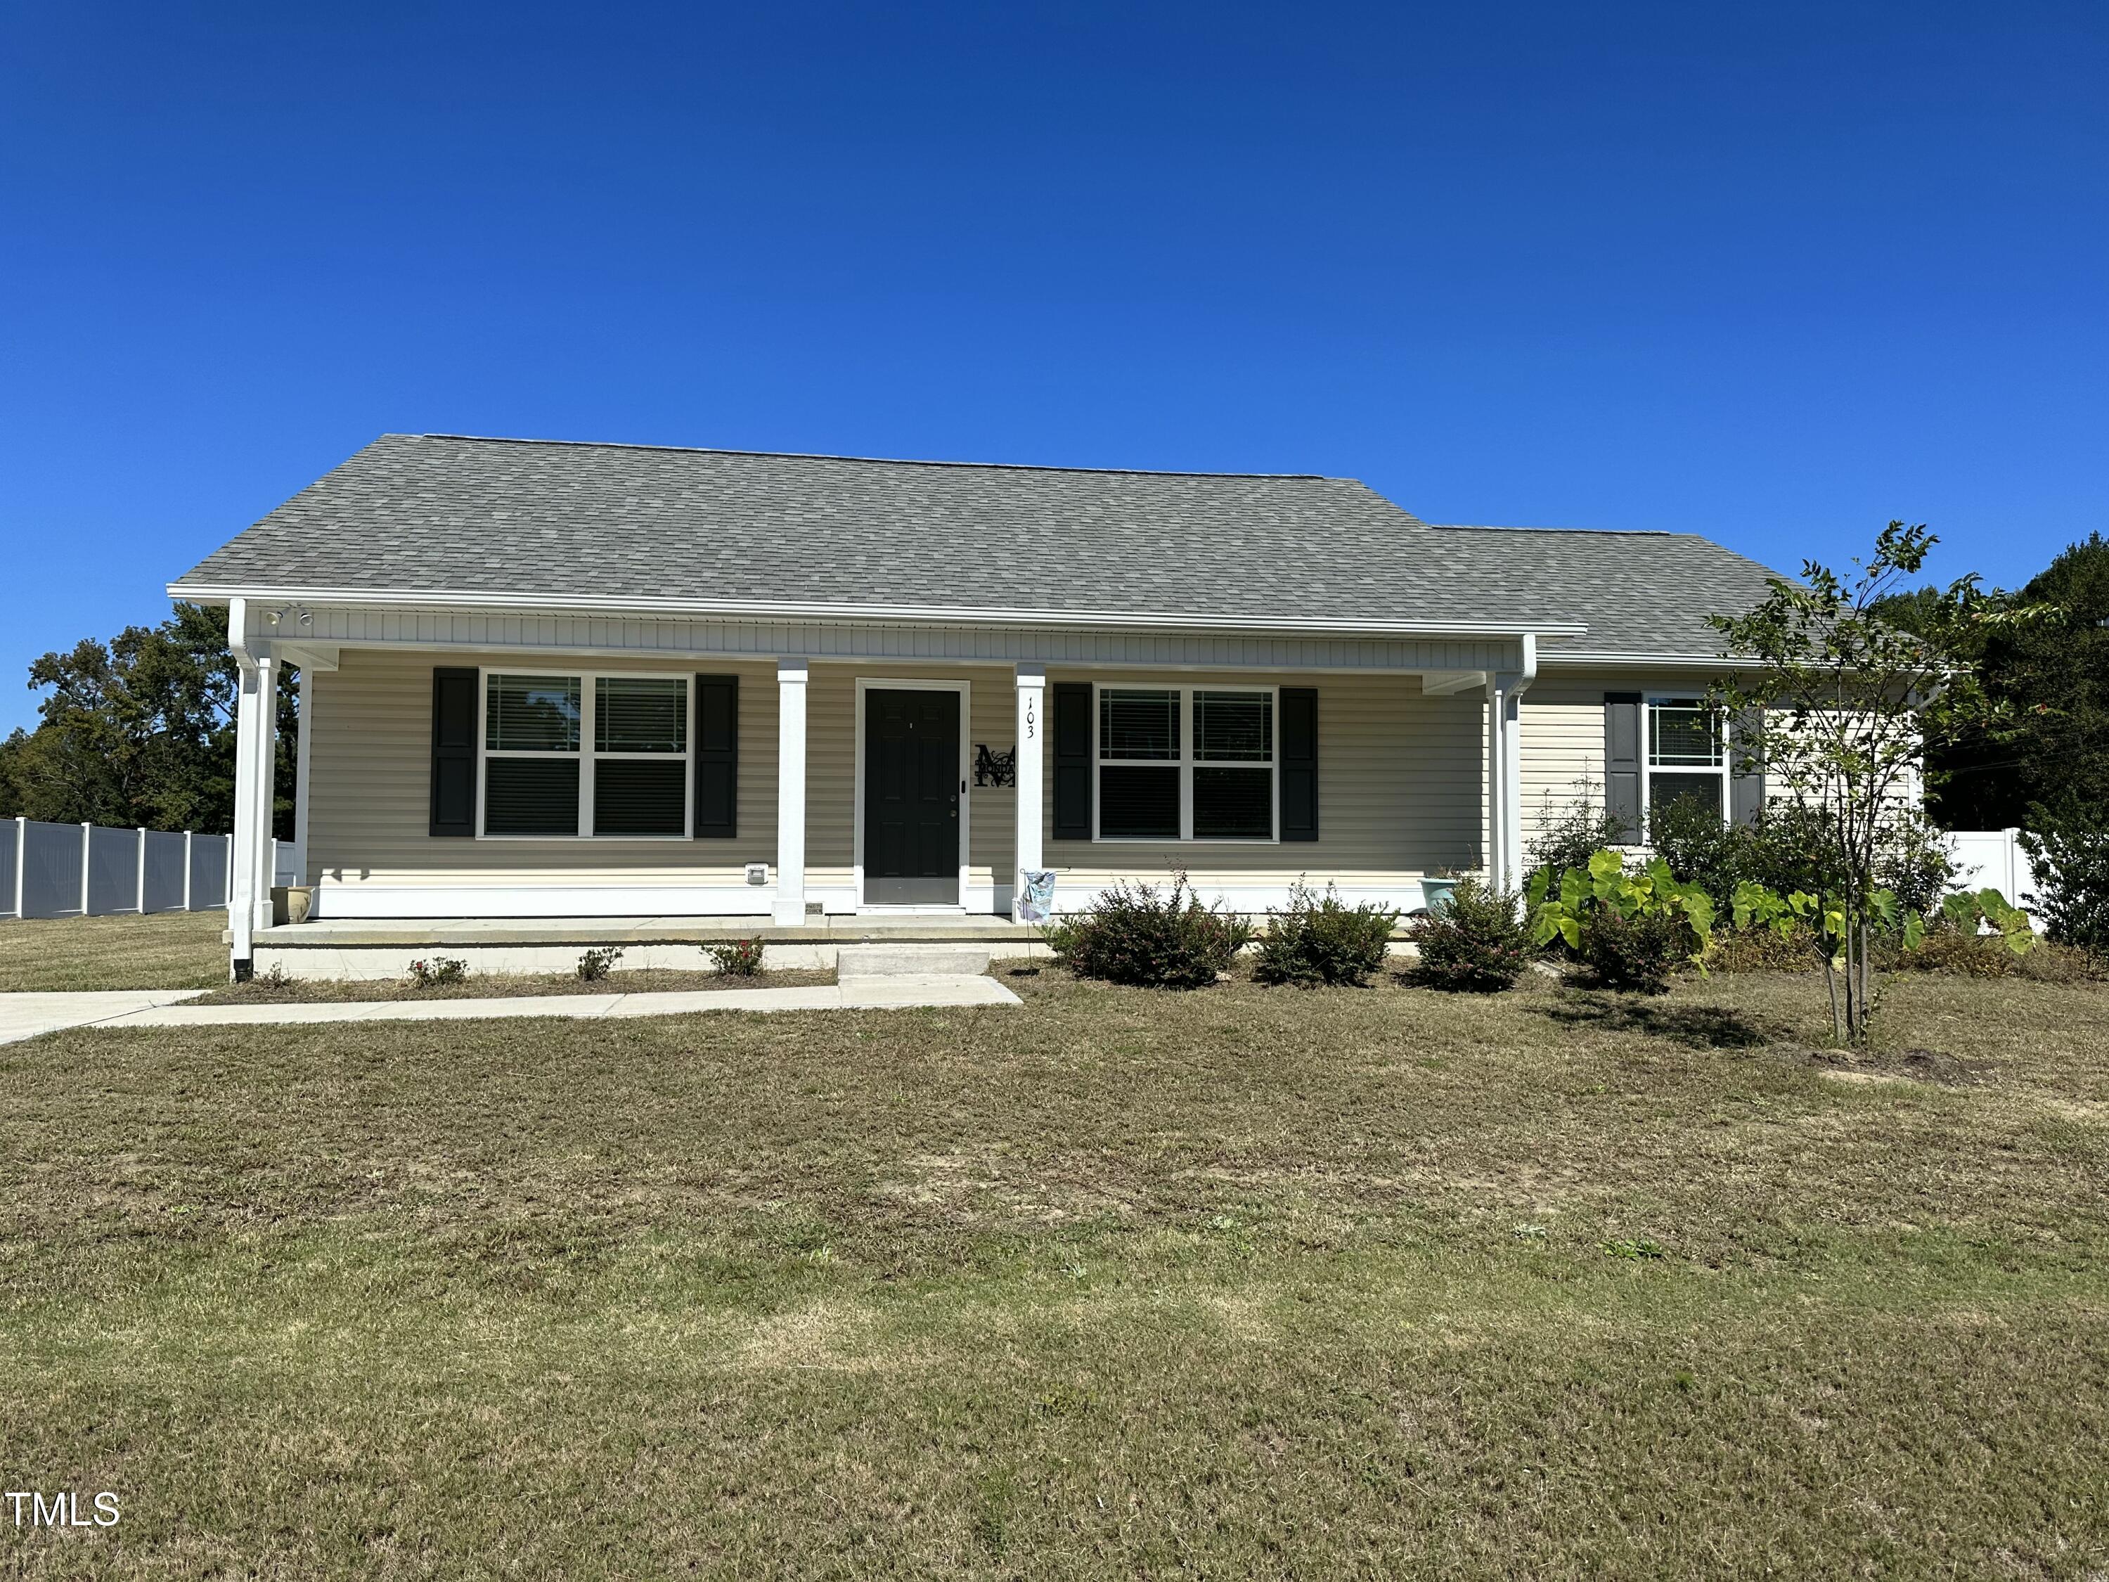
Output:
[[[0,1044],[63,1027],[270,1027],[323,1021],[487,1021],[491,1017],[683,1017],[692,1010],[913,1010],[1014,1006],[991,977],[890,975],[806,989],[692,989],[683,993],[534,993],[502,1000],[323,1000],[190,1006],[202,989],[118,993],[0,993]]]

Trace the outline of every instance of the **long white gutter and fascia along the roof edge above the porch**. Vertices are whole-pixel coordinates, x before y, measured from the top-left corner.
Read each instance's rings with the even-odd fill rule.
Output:
[[[890,620],[939,624],[1014,626],[1143,626],[1152,631],[1278,631],[1278,633],[1367,633],[1394,637],[1580,637],[1582,622],[1559,620],[1291,620],[1265,616],[1194,616],[1173,612],[1114,610],[968,610],[953,605],[806,603],[768,599],[576,599],[550,593],[375,593],[359,589],[234,589],[171,582],[171,599],[192,603],[329,603],[399,605],[434,610],[574,612],[582,616],[719,616],[725,620]]]

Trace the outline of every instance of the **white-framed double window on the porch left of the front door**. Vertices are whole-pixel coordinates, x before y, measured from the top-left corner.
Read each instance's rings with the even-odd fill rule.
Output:
[[[694,677],[483,671],[481,840],[688,840]]]

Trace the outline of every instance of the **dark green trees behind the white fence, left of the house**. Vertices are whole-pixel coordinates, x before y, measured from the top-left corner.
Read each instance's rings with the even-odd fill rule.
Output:
[[[179,603],[158,626],[82,639],[30,667],[49,690],[34,732],[0,742],[0,816],[53,823],[234,827],[234,654],[228,612]],[[293,835],[293,673],[278,686],[272,829]]]

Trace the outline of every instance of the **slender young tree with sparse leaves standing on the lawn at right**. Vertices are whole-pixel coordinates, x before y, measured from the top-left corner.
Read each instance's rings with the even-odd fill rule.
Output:
[[[1805,561],[1799,582],[1772,578],[1748,614],[1710,616],[1736,667],[1713,688],[1713,702],[1738,721],[1740,768],[1763,766],[1767,793],[1820,821],[1831,846],[1820,892],[1797,890],[1774,905],[1750,894],[1740,911],[1782,930],[1810,926],[1833,1034],[1847,1044],[1866,1036],[1875,1010],[1871,937],[1923,926],[1900,920],[1896,896],[1875,882],[1883,833],[1917,802],[1928,745],[1999,734],[2001,711],[1972,662],[1985,633],[2042,618],[1966,576],[1915,593],[1909,629],[1898,624],[1894,599],[1936,542],[1923,523],[1892,521],[1850,574]]]

